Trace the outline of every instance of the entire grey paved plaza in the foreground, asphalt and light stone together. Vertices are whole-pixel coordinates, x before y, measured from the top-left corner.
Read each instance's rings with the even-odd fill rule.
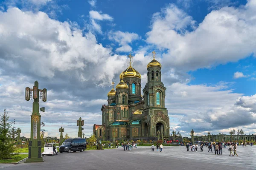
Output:
[[[132,151],[119,149],[85,150],[83,153],[59,153],[44,156],[43,163],[0,164],[4,170],[256,170],[256,147],[238,147],[239,156],[204,152],[187,152],[186,147],[164,147],[162,153],[151,152],[150,147],[138,147]]]

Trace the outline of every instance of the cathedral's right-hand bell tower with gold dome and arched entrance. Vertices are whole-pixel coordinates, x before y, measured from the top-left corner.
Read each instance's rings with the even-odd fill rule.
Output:
[[[161,81],[162,65],[155,59],[155,51],[152,54],[153,60],[147,65],[148,82],[143,89],[145,105],[142,113],[142,131],[144,137],[163,140],[170,136],[170,121],[165,108],[166,88]]]

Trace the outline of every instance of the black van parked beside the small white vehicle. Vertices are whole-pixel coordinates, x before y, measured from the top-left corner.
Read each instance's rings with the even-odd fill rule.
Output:
[[[82,139],[82,138],[66,139],[59,147],[59,151],[60,151],[60,153],[62,153],[62,152],[71,153],[71,151],[83,152],[84,149],[86,149],[86,147],[87,147],[86,139]]]

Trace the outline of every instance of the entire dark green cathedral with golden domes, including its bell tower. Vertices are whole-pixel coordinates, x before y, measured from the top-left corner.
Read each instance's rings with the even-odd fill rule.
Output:
[[[169,116],[165,108],[166,88],[161,81],[162,65],[155,59],[147,65],[147,83],[141,95],[141,75],[131,65],[120,82],[108,92],[108,104],[102,105],[102,125],[93,125],[93,134],[101,140],[169,139]]]

